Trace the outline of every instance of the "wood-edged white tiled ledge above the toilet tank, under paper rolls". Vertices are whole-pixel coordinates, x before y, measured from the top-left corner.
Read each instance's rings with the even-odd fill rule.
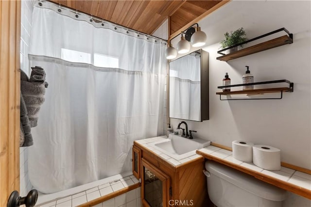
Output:
[[[231,151],[216,146],[207,146],[197,150],[197,153],[207,159],[213,159],[244,173],[255,175],[262,181],[311,199],[311,175],[309,174],[286,167],[281,167],[279,171],[264,170],[253,163],[234,159]]]

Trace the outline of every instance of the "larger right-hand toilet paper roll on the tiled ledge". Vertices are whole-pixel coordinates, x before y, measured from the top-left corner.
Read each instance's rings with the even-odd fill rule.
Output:
[[[254,145],[253,162],[258,167],[266,170],[280,170],[281,150],[268,145]]]

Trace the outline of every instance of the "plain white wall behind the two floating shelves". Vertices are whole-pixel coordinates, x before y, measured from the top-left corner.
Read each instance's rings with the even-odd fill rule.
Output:
[[[197,130],[200,138],[226,146],[234,140],[275,146],[281,149],[282,161],[311,169],[311,1],[235,0],[198,23],[207,33],[210,119],[187,121],[188,128]],[[240,27],[248,38],[285,27],[294,33],[294,43],[229,62],[216,60],[224,33]],[[242,83],[245,65],[255,81],[294,82],[294,93],[284,93],[280,100],[219,100],[215,93],[221,91],[217,86],[222,85],[225,72],[232,84]],[[171,119],[172,127],[180,121]],[[296,196],[293,205],[303,206],[303,202],[310,204]]]

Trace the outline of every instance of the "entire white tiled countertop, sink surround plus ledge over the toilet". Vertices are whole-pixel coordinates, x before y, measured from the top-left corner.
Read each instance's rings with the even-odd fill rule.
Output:
[[[200,157],[213,159],[229,167],[235,168],[249,175],[253,175],[254,177],[264,182],[268,182],[287,191],[291,191],[311,199],[311,175],[309,174],[286,167],[281,167],[281,170],[279,171],[264,170],[253,163],[247,163],[238,159],[234,159],[232,156],[232,151],[212,145],[196,150],[196,152],[194,151],[189,157],[185,159],[177,160],[151,146],[151,143],[165,141],[167,139],[167,136],[160,136],[137,140],[134,142],[152,151],[155,155],[158,155],[175,167]]]

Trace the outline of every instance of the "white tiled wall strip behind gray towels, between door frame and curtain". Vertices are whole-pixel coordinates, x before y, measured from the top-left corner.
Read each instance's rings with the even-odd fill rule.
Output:
[[[21,1],[21,30],[20,30],[20,69],[29,75],[28,53],[30,45],[30,32],[33,19],[33,0]],[[19,179],[20,179],[20,195],[26,196],[28,191],[32,190],[33,186],[28,175],[28,148],[19,148]],[[31,146],[30,146],[31,148]]]

